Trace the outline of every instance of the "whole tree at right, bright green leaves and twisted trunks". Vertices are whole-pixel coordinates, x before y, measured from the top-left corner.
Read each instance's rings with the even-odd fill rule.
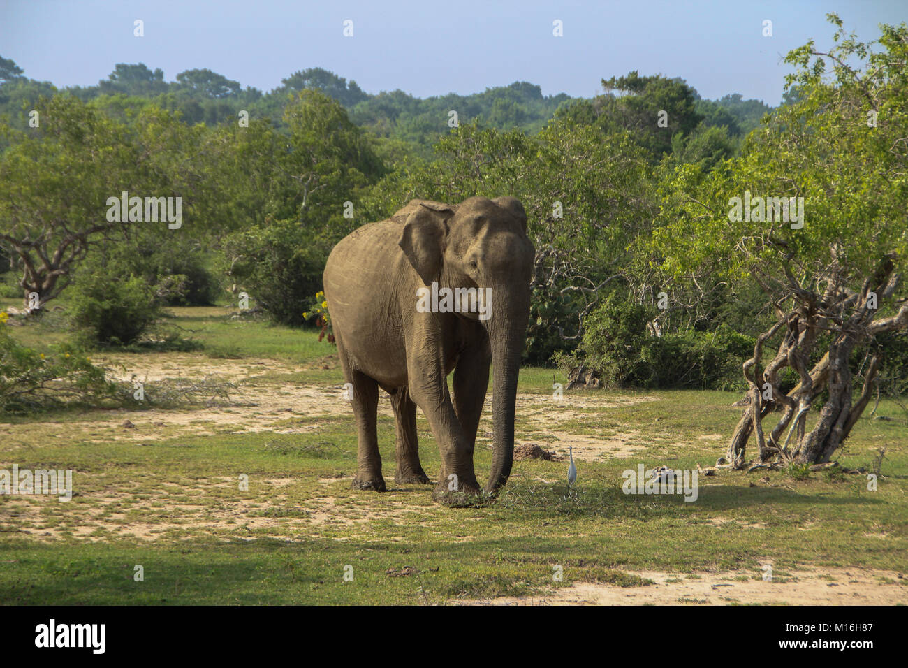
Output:
[[[908,26],[881,26],[883,48],[874,51],[846,35],[836,15],[829,20],[832,49],[811,40],[785,58],[797,95],[748,135],[738,157],[708,173],[678,166],[660,185],[651,238],[638,239],[662,282],[753,282],[776,311],[761,341],[778,352],[764,361],[758,346],[744,367],[751,400],[729,444],[735,466],[745,465],[753,425],[775,408],[784,414],[772,432],[754,430],[758,461],[829,461],[870,400],[883,361],[874,337],[908,328]],[[802,381],[791,396],[778,385],[786,367]],[[764,406],[766,384],[774,391]],[[856,398],[855,386],[863,390]],[[799,424],[816,402],[812,428],[800,422],[791,447],[781,443],[789,422]]]

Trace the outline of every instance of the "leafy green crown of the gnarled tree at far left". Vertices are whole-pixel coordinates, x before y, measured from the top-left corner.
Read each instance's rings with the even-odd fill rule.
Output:
[[[0,243],[17,256],[23,292],[42,304],[73,280],[76,266],[104,239],[147,234],[204,237],[200,218],[216,199],[193,159],[202,128],[149,106],[127,127],[71,96],[39,101],[41,125],[9,131],[12,145],[0,155]],[[185,226],[139,222],[111,215],[108,200],[180,198]],[[141,208],[141,207],[140,207]],[[119,218],[119,220],[117,220]],[[163,228],[163,233],[162,233]]]

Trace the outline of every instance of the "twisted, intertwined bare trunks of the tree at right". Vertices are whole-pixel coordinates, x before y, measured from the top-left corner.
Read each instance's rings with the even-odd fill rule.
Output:
[[[876,334],[908,328],[908,305],[903,305],[893,316],[873,320],[878,298],[891,296],[898,283],[898,276],[892,273],[892,260],[886,257],[873,276],[864,281],[860,293],[844,288],[842,276],[836,272],[831,272],[824,294],[813,294],[796,286],[793,310],[757,338],[754,355],[743,364],[749,385],[748,403],[728,444],[725,465],[742,469],[789,462],[824,464],[832,459],[870,402],[882,364],[879,353],[868,352],[862,391],[855,401],[852,354],[872,344]],[[793,280],[794,276],[789,278]],[[761,372],[763,347],[783,325],[785,336],[779,343],[778,353]],[[833,333],[829,350],[808,372],[807,364],[819,334],[824,331]],[[777,379],[786,366],[797,372],[801,382],[783,394]],[[829,398],[808,431],[809,410],[824,388],[828,389]],[[774,411],[783,414],[767,439],[762,423]],[[787,434],[783,438],[785,430]],[[746,446],[752,434],[756,441],[753,463],[745,462]]]

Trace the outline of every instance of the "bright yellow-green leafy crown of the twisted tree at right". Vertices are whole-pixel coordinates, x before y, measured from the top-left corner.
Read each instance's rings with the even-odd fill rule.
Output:
[[[903,49],[899,35],[891,28],[882,41]],[[904,136],[908,115],[903,95],[894,88],[899,79],[880,78],[886,67],[896,65],[898,54],[872,57],[875,74],[868,73],[866,80],[836,67],[838,85],[830,85],[821,65],[807,68],[812,48],[811,43],[787,57],[804,68],[789,81],[808,96],[782,107],[751,135],[741,157],[709,174],[682,165],[660,187],[663,207],[647,245],[667,276],[713,274],[729,281],[752,276],[779,295],[793,289],[786,287],[785,267],[797,267],[804,276],[800,283],[809,285],[822,280],[824,267],[844,263],[849,283],[859,289],[882,254],[898,254],[903,265],[908,251],[901,224],[908,195],[900,175],[905,155],[889,148]],[[852,45],[847,53],[856,49]],[[865,95],[870,89],[864,90],[869,85],[874,86],[870,100]],[[866,123],[874,108],[880,118],[875,128]],[[729,200],[745,190],[755,196],[804,197],[803,229],[783,221],[729,224]],[[867,221],[873,221],[873,234],[867,234]]]

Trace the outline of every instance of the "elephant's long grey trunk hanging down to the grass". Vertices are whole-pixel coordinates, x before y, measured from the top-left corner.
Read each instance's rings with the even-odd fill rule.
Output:
[[[493,297],[494,299],[494,297]],[[529,294],[508,295],[508,303],[495,304],[487,323],[492,352],[492,426],[494,449],[486,492],[496,494],[508,482],[514,463],[514,411],[520,356],[527,338]]]

